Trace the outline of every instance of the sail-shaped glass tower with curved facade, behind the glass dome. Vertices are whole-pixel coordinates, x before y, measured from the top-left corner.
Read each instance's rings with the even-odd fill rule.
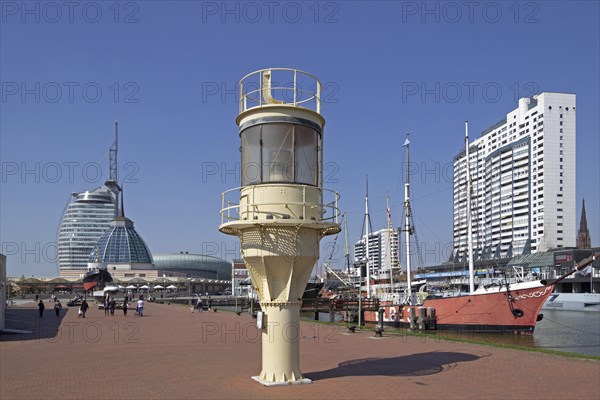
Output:
[[[73,193],[58,232],[60,276],[79,276],[87,271],[88,258],[117,213],[117,191],[103,185]]]

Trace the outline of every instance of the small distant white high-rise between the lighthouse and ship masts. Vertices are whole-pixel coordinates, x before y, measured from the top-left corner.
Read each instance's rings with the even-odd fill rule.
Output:
[[[363,262],[365,259],[365,238],[354,244],[354,261]],[[382,229],[369,234],[369,266],[372,275],[389,271],[400,266],[398,252],[398,232]]]

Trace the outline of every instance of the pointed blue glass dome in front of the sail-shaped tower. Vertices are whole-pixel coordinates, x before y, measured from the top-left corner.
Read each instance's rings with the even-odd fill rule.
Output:
[[[99,253],[99,254],[98,254]],[[133,222],[117,218],[98,240],[90,253],[89,262],[152,263],[152,255],[144,239],[136,232]]]

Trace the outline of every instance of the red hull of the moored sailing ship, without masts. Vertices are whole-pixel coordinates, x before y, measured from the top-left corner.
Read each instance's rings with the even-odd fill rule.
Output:
[[[435,309],[435,329],[480,333],[532,334],[540,310],[552,294],[553,285],[505,289],[455,297],[426,299],[417,308]],[[410,306],[381,304],[384,324],[410,326]],[[375,312],[365,313],[367,322],[377,322]],[[368,315],[367,315],[368,314]],[[415,315],[419,315],[415,310]]]

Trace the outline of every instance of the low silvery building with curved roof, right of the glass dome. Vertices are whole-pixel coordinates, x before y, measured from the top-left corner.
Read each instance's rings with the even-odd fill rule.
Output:
[[[154,254],[154,265],[157,269],[182,272],[190,277],[231,279],[230,262],[203,254],[187,252]]]

